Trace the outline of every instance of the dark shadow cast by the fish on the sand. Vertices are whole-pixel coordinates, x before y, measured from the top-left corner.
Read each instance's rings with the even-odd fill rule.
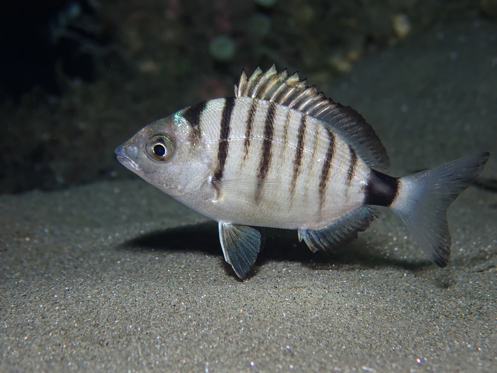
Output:
[[[377,267],[397,267],[416,271],[433,266],[428,260],[408,261],[402,258],[386,257],[385,254],[374,248],[366,248],[364,239],[356,240],[339,252],[312,253],[304,242],[298,242],[297,232],[293,230],[260,228],[266,236],[254,267],[247,277],[254,275],[259,266],[274,260],[281,262],[299,262],[303,266],[314,270],[358,270]],[[200,251],[202,253],[219,256],[223,252],[219,243],[218,226],[215,222],[205,222],[166,230],[143,234],[137,238],[124,242],[120,246],[126,251]],[[224,262],[224,261],[223,261]],[[225,263],[227,272],[235,273],[231,266]]]

